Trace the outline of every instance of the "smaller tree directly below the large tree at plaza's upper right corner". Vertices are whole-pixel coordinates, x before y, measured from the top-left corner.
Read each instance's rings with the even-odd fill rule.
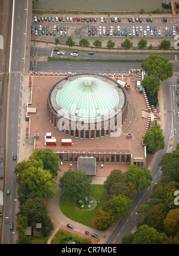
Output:
[[[160,80],[156,76],[144,76],[141,85],[149,92],[151,97],[154,97],[160,90]]]

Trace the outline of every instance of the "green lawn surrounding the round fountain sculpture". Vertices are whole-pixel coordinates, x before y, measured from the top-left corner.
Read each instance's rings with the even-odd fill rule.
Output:
[[[80,210],[76,207],[76,201],[68,198],[65,193],[60,199],[60,209],[68,218],[73,219],[89,227],[96,228],[93,222],[93,218],[98,208],[102,205],[104,201],[107,200],[107,192],[103,185],[91,185],[91,197],[97,200],[97,206],[93,210]]]

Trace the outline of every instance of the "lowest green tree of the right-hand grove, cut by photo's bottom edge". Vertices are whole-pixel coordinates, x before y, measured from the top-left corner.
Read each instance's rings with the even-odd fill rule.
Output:
[[[144,224],[138,228],[132,244],[162,244],[165,238],[165,233],[159,233],[155,228]]]

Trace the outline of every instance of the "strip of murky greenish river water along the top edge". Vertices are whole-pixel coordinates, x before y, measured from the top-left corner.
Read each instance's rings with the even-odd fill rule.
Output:
[[[161,0],[34,0],[33,8],[83,11],[145,11],[162,9]]]

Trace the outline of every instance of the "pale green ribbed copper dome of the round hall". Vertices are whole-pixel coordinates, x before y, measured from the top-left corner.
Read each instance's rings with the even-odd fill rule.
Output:
[[[79,118],[105,115],[118,103],[118,94],[109,83],[95,77],[72,80],[58,91],[57,103]]]

